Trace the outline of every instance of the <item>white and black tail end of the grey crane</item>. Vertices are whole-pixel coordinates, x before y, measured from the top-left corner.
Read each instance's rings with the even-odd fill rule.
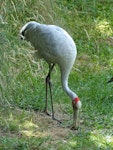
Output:
[[[30,21],[26,23],[20,30],[20,38],[21,40],[28,40],[26,39],[27,33],[32,30],[38,23],[35,21]]]

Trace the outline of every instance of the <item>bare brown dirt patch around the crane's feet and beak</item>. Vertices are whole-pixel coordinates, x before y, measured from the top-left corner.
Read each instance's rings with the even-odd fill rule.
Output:
[[[59,109],[55,110],[55,112],[57,119],[62,121],[61,124],[42,112],[33,112],[34,122],[39,127],[38,131],[52,137],[53,140],[66,139],[69,134],[76,134],[78,132],[77,130],[72,131],[68,127],[72,123],[72,117]]]

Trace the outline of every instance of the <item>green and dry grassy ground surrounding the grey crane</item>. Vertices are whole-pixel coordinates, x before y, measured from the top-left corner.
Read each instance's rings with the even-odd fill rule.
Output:
[[[110,0],[1,1],[0,150],[113,149],[113,84],[107,84],[113,76],[112,7]],[[53,98],[62,125],[42,113],[48,65],[34,58],[33,48],[18,36],[29,20],[57,24],[76,42],[69,86],[83,104],[77,131],[66,128],[72,123],[72,107],[57,66]]]

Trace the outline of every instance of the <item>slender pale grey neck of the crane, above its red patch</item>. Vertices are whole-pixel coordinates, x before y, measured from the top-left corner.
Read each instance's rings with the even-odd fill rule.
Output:
[[[64,91],[69,95],[69,97],[71,97],[71,99],[73,100],[77,97],[77,95],[68,86],[68,76],[69,76],[69,73],[61,74],[62,87]]]

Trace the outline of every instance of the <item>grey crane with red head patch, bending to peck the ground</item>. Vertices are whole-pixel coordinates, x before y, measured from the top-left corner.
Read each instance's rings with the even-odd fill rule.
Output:
[[[57,64],[61,72],[61,83],[63,90],[68,94],[72,101],[73,108],[73,129],[78,127],[78,113],[81,108],[81,101],[77,94],[68,86],[70,71],[76,59],[77,49],[71,36],[61,27],[56,25],[40,24],[35,21],[26,23],[20,30],[21,39],[30,42],[35,48],[40,58],[43,58],[49,65],[49,73],[46,77],[46,101],[45,112],[47,112],[47,93],[50,90],[52,119],[54,117],[51,72]]]

